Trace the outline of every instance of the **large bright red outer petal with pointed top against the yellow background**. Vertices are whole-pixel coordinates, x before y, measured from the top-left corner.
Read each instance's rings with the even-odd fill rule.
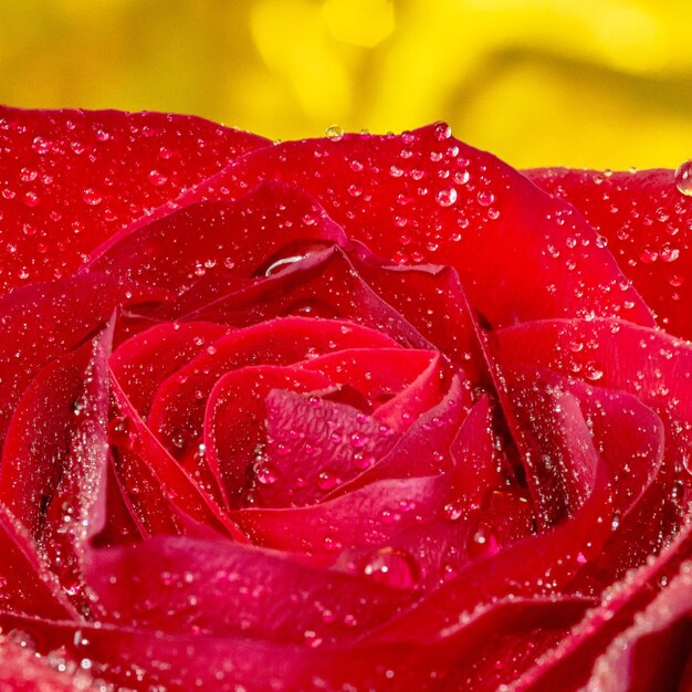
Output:
[[[224,188],[239,197],[265,179],[312,193],[376,254],[452,264],[493,326],[588,313],[652,324],[573,207],[450,138],[444,125],[277,145],[239,160],[190,199],[222,197]]]

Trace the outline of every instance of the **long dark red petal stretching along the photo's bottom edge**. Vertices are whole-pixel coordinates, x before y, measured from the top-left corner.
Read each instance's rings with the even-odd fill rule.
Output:
[[[578,597],[499,601],[479,608],[458,628],[439,632],[432,640],[344,648],[166,636],[154,630],[73,626],[9,615],[0,615],[0,621],[4,627],[35,632],[45,650],[65,646],[67,660],[86,659],[101,677],[137,691],[162,685],[171,692],[195,686],[237,692],[240,684],[248,692],[268,692],[280,682],[285,692],[315,686],[325,692],[348,686],[434,692],[447,682],[452,689],[464,688],[464,680],[472,681],[473,689],[496,689],[499,682],[511,680],[516,670],[549,647],[589,604]],[[497,669],[497,660],[507,665]]]

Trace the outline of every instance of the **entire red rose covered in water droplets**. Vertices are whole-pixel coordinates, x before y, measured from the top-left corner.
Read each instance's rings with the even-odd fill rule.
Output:
[[[0,689],[692,688],[672,171],[0,112]]]

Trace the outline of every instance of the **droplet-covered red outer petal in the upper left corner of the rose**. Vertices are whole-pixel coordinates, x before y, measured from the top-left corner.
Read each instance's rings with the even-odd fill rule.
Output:
[[[123,226],[268,144],[190,116],[0,107],[0,294],[74,272]]]

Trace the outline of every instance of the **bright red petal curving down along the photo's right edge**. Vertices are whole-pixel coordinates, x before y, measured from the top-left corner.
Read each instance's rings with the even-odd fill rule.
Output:
[[[630,534],[629,546],[633,559],[659,549],[686,512],[685,489],[692,480],[685,471],[692,443],[689,344],[663,332],[600,319],[539,322],[503,329],[495,338],[499,357],[508,368],[530,363],[532,368],[625,390],[661,417],[665,432],[661,481],[648,492],[649,516],[638,533]]]

